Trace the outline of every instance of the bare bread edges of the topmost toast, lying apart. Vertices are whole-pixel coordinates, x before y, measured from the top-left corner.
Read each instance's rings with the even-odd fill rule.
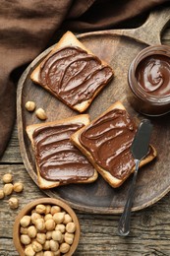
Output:
[[[30,79],[35,83],[38,84],[39,86],[41,86],[42,88],[44,88],[46,91],[50,92],[52,95],[58,97],[60,100],[62,100],[64,103],[67,103],[66,101],[63,100],[62,97],[57,96],[56,94],[54,94],[54,92],[45,85],[42,85],[40,83],[39,80],[39,73],[40,73],[40,66],[51,56],[53,55],[58,49],[66,47],[66,46],[78,46],[82,49],[84,49],[88,54],[95,56],[89,49],[87,49],[85,47],[85,45],[75,36],[74,33],[72,32],[66,32],[61,39],[59,40],[58,43],[56,43],[54,45],[54,47],[52,48],[52,50],[50,51],[50,53],[44,58],[44,60],[39,63],[37,65],[37,67],[32,71],[31,75],[30,75]],[[108,67],[109,65],[101,60],[101,64],[105,67]],[[110,67],[110,66],[109,66]],[[111,67],[110,67],[111,68]],[[112,69],[112,73],[114,75],[113,69]],[[113,76],[112,76],[113,77]],[[112,77],[110,78],[110,80],[112,79]],[[110,82],[110,80],[108,80],[107,84]],[[84,112],[85,109],[89,106],[89,104],[92,102],[92,100],[94,99],[95,96],[97,96],[99,94],[99,92],[105,87],[105,85],[100,86],[93,94],[93,96],[91,96],[90,98],[84,100],[81,103],[78,103],[76,105],[70,106],[72,109],[75,109],[77,111],[79,111],[80,113]]]

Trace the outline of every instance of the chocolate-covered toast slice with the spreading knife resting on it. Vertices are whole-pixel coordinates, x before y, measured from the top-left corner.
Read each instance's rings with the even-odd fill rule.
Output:
[[[135,170],[130,147],[137,125],[124,105],[117,101],[102,115],[71,136],[71,141],[90,160],[94,168],[112,186],[119,187]],[[140,167],[156,157],[149,146]]]

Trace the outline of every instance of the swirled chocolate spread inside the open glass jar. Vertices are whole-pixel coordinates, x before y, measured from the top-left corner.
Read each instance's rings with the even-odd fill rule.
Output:
[[[152,96],[170,95],[170,57],[151,55],[142,60],[136,71],[142,90]]]

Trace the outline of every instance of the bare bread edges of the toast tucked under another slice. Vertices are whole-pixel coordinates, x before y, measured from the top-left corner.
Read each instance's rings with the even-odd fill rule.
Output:
[[[32,135],[33,135],[33,132],[34,132],[34,130],[36,128],[48,127],[48,126],[51,126],[51,125],[59,125],[59,124],[69,124],[71,122],[72,123],[81,122],[84,125],[87,125],[89,123],[89,115],[88,114],[80,114],[80,115],[77,115],[77,116],[74,116],[74,117],[69,117],[69,118],[62,119],[62,120],[28,125],[27,128],[26,128],[26,131],[28,133],[28,138],[29,138],[29,140],[31,142],[31,147],[32,147],[33,152],[35,152],[35,147],[34,147]],[[63,185],[63,183],[61,183],[59,181],[49,181],[49,180],[44,179],[40,175],[39,166],[37,164],[36,159],[35,159],[35,165],[36,165],[38,186],[40,188],[42,188],[42,189],[49,189],[49,188],[53,188],[53,187],[57,187],[57,186]],[[98,177],[98,173],[94,169],[93,176],[91,176],[91,177],[89,177],[88,179],[85,179],[85,180],[75,181],[73,183],[91,183],[91,182],[95,181],[97,179],[97,177]]]

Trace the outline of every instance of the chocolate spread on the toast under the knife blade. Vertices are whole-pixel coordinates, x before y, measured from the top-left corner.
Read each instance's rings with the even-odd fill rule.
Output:
[[[136,132],[127,111],[113,109],[87,126],[79,139],[99,166],[123,179],[135,165],[130,147]]]

